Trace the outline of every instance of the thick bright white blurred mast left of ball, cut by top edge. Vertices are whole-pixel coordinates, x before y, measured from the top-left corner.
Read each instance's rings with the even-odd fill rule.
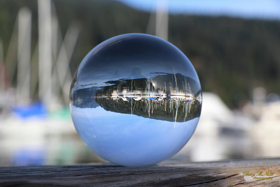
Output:
[[[49,84],[52,77],[52,18],[51,1],[38,0],[39,21],[39,98],[48,106],[52,99]]]

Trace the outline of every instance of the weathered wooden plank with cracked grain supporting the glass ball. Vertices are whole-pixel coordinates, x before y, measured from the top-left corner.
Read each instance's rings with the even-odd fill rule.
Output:
[[[244,172],[249,175],[244,176]],[[261,180],[259,177],[272,179]],[[6,167],[0,168],[0,186],[279,187],[280,159],[186,163],[169,161],[149,167],[122,167],[110,163]]]

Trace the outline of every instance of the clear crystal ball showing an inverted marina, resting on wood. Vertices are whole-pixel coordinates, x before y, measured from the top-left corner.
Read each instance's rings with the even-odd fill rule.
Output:
[[[177,47],[147,34],[112,37],[78,66],[70,111],[85,144],[124,166],[154,165],[175,155],[197,126],[198,75]]]

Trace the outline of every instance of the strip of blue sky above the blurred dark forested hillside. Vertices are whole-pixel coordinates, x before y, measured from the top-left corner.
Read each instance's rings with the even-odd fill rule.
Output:
[[[151,11],[156,0],[118,0],[131,7]],[[170,13],[227,15],[232,17],[280,19],[280,0],[160,0]]]

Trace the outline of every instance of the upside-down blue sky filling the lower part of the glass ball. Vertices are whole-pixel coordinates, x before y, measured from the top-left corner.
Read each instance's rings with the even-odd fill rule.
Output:
[[[199,117],[169,122],[71,105],[82,140],[105,160],[126,166],[151,165],[170,158],[193,135]]]

